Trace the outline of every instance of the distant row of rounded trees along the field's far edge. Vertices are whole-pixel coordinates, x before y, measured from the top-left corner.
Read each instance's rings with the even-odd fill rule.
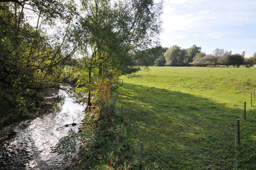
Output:
[[[245,52],[232,54],[224,49],[216,48],[212,54],[201,52],[201,47],[193,45],[183,49],[179,46],[171,48],[154,47],[135,53],[135,63],[139,66],[233,66],[246,67],[256,64],[256,53],[250,58],[244,58]]]

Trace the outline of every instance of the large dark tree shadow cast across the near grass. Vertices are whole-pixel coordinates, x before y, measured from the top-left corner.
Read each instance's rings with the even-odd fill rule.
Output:
[[[124,83],[118,93],[118,104],[124,106],[125,118],[135,129],[135,140],[144,143],[145,167],[233,168],[236,120],[241,118],[242,109],[191,94],[130,83]]]

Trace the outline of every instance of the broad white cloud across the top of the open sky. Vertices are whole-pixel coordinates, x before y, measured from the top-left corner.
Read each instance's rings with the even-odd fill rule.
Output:
[[[165,13],[162,16],[164,32],[173,34],[176,31],[211,31],[208,34],[209,38],[220,38],[224,37],[225,34],[216,33],[214,31],[216,26],[239,26],[243,23],[256,22],[255,17],[252,17],[250,12],[240,9],[243,6],[240,7],[237,4],[216,4],[216,2],[196,0],[188,1],[186,5],[195,5],[197,8],[186,10],[184,5],[181,5],[185,2],[187,1],[166,1]],[[233,9],[233,7],[236,8]]]

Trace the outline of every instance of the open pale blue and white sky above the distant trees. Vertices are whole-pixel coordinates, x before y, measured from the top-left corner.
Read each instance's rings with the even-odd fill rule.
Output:
[[[193,44],[211,54],[216,48],[256,52],[255,0],[165,0],[162,14],[162,47]]]

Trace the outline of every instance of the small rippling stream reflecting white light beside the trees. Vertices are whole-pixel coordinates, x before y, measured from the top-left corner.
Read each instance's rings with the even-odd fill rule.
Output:
[[[0,169],[67,169],[68,163],[63,161],[62,156],[52,153],[51,148],[70,129],[78,132],[80,124],[57,128],[73,123],[73,120],[81,123],[85,106],[76,103],[63,90],[55,94],[55,98],[57,97],[61,100],[54,103],[49,114],[21,122],[14,127],[14,137],[0,146]]]

